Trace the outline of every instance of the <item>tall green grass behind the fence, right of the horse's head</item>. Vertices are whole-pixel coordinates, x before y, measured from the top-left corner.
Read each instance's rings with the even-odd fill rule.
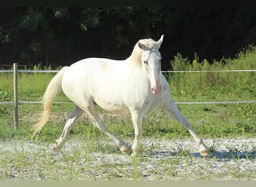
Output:
[[[256,47],[249,46],[236,58],[222,58],[210,64],[206,59],[189,61],[180,53],[170,62],[174,71],[256,70]],[[185,99],[255,99],[255,72],[205,72],[165,74],[174,96]],[[224,97],[223,97],[224,96]],[[184,98],[183,98],[184,99]]]

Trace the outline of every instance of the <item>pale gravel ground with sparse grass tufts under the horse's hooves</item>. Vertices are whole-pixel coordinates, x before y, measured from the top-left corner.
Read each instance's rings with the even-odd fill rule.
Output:
[[[60,153],[52,144],[0,142],[0,180],[256,180],[256,138],[205,143],[208,158],[190,139],[144,139],[132,158],[112,141],[68,139]]]

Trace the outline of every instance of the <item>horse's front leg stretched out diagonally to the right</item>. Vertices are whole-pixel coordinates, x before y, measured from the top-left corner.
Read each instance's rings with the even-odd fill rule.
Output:
[[[194,129],[190,125],[189,121],[186,120],[186,117],[183,116],[183,114],[180,113],[180,110],[177,108],[177,105],[174,103],[173,100],[170,100],[167,106],[164,107],[176,120],[180,121],[180,123],[183,124],[185,129],[189,131],[189,133],[194,138],[195,142],[199,146],[199,153],[201,156],[209,156],[210,151],[209,149],[204,145],[203,140],[195,133]]]

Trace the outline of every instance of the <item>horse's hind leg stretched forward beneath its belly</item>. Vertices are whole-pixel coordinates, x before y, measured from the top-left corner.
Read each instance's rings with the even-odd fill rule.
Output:
[[[119,138],[115,137],[115,135],[112,134],[112,132],[109,132],[109,129],[105,126],[103,123],[103,120],[100,119],[100,115],[98,114],[94,102],[90,102],[90,105],[88,107],[83,108],[84,111],[87,112],[87,114],[91,117],[93,120],[94,126],[97,126],[102,132],[104,132],[106,135],[109,136],[109,138],[112,138],[113,141],[115,141],[115,144],[117,144],[119,147],[121,147],[121,152],[127,155],[130,155],[132,151],[127,147],[127,144],[125,144],[123,141],[121,141]]]

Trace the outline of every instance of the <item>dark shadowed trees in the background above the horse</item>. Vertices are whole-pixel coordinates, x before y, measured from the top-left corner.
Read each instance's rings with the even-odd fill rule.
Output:
[[[162,69],[180,52],[210,63],[256,39],[255,7],[0,7],[0,65],[124,59],[138,39],[165,34]]]

